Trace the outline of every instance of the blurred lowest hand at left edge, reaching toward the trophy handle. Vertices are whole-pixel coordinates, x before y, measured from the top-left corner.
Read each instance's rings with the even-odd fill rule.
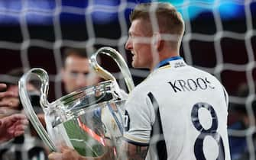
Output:
[[[24,114],[12,114],[0,119],[0,142],[13,139],[24,133],[28,126],[27,117]]]

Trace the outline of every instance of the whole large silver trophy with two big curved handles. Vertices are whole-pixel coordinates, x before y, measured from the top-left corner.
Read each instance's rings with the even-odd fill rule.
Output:
[[[128,66],[120,53],[111,47],[102,47],[90,57],[92,69],[105,82],[73,91],[51,103],[47,101],[49,77],[44,69],[31,69],[19,81],[25,114],[44,143],[54,152],[58,152],[60,146],[69,146],[86,157],[118,158],[119,139],[123,131],[123,104],[127,94],[119,88],[115,77],[99,66],[96,57],[100,53],[115,60],[124,75],[128,91],[131,91],[134,82]],[[32,75],[41,80],[40,104],[47,131],[38,120],[26,89]]]

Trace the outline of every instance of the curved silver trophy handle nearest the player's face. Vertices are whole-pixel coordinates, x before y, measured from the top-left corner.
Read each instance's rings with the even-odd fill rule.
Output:
[[[112,80],[114,82],[116,82],[115,77],[110,72],[106,71],[101,66],[99,66],[99,64],[97,62],[96,58],[97,58],[98,54],[100,54],[100,53],[110,56],[110,57],[112,57],[112,59],[115,60],[115,62],[118,64],[119,69],[122,72],[122,75],[124,75],[125,84],[127,85],[128,91],[130,92],[134,88],[134,82],[131,78],[131,72],[129,71],[129,68],[125,62],[125,59],[123,59],[122,55],[120,53],[118,53],[117,50],[113,49],[112,47],[104,46],[104,47],[100,48],[99,50],[97,50],[96,53],[92,54],[92,56],[89,59],[92,68],[95,70],[95,72],[99,76],[101,76],[105,80]]]

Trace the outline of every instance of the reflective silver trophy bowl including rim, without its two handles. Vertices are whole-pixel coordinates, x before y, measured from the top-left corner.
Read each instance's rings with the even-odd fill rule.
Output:
[[[70,146],[83,156],[115,156],[125,100],[113,88],[113,82],[102,82],[51,103],[45,117],[53,144]]]

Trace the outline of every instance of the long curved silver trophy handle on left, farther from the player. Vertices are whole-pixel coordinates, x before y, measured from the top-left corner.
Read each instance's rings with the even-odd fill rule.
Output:
[[[47,131],[44,130],[44,126],[41,124],[40,120],[38,119],[37,114],[35,114],[34,109],[31,105],[30,98],[28,96],[28,91],[26,88],[27,88],[28,80],[32,74],[37,75],[37,77],[40,78],[41,80],[40,103],[41,103],[41,106],[44,106],[43,110],[45,111],[46,107],[49,106],[49,102],[47,101],[49,77],[47,75],[47,72],[44,69],[39,69],[39,68],[31,69],[30,71],[22,75],[21,79],[19,80],[18,91],[19,91],[19,96],[21,98],[21,104],[24,107],[25,114],[28,116],[28,119],[31,121],[32,125],[34,126],[34,129],[37,130],[37,133],[39,134],[41,139],[53,152],[57,152],[56,146],[53,145],[53,142],[50,139],[50,136],[47,134]]]

